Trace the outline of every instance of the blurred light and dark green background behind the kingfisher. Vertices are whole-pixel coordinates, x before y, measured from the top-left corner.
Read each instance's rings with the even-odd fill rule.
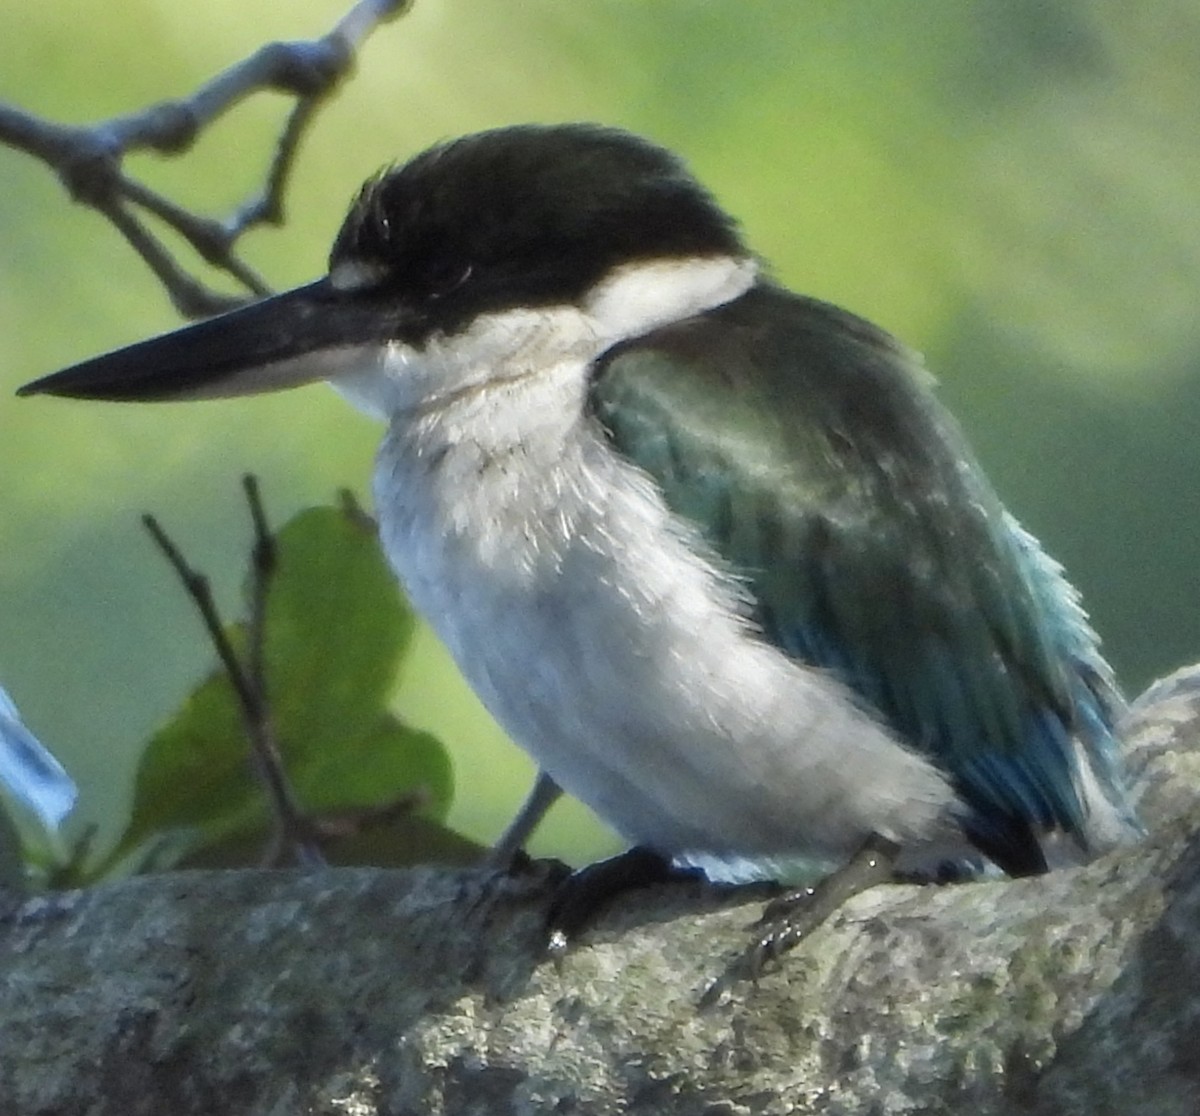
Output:
[[[0,97],[64,121],[191,91],[348,0],[0,5]],[[359,182],[440,138],[623,125],[678,150],[788,284],[922,349],[1012,510],[1068,568],[1130,692],[1200,658],[1200,5],[1159,0],[416,0],[306,142],[283,230],[248,254],[323,269]],[[282,98],[185,160],[131,169],[227,211]],[[163,407],[20,383],[176,324],[145,268],[40,164],[0,149],[0,683],[110,836],[144,740],[206,670],[144,536],[157,512],[236,604],[238,478],[277,521],[367,493],[379,431],[331,391]],[[457,764],[451,821],[493,838],[530,769],[428,635],[397,712]],[[535,851],[616,847],[574,804]]]

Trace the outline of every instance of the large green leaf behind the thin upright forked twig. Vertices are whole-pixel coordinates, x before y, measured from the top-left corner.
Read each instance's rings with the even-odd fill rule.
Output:
[[[454,793],[445,749],[386,708],[414,626],[360,515],[311,508],[278,532],[264,673],[276,743],[306,810],[379,806],[421,791],[416,814],[431,823],[445,816]],[[245,659],[246,625],[229,636]],[[232,850],[269,823],[233,686],[215,672],[151,738],[130,823],[95,872],[180,830],[194,835],[194,860],[203,847]]]

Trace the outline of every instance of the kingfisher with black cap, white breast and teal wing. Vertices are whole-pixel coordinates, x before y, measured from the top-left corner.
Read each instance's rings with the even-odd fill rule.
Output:
[[[671,152],[589,124],[362,187],[314,282],[20,389],[329,382],[386,424],[384,550],[541,776],[719,878],[1138,833],[1123,703],[1062,568],[919,358],[775,282]]]

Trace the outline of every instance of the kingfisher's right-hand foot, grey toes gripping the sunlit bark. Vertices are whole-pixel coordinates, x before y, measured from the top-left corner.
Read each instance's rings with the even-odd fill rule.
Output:
[[[700,997],[710,1008],[743,980],[757,980],[785,953],[794,949],[853,895],[895,880],[900,846],[875,834],[841,868],[814,887],[773,899],[754,925],[749,947]]]

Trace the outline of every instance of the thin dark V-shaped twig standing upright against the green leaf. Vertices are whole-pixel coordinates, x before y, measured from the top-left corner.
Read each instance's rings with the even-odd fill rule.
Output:
[[[306,866],[318,866],[325,863],[313,839],[313,827],[300,810],[288,784],[283,770],[283,762],[280,757],[278,744],[275,739],[275,730],[271,725],[270,704],[266,698],[266,689],[263,680],[262,644],[263,625],[265,620],[265,607],[259,602],[259,598],[265,601],[265,583],[270,569],[274,568],[274,539],[269,546],[262,546],[265,532],[265,515],[262,512],[262,504],[258,498],[257,482],[247,479],[245,481],[246,493],[251,502],[252,516],[254,518],[256,546],[254,546],[254,601],[251,618],[250,646],[251,667],[247,670],[238,658],[236,650],[226,634],[221,616],[212,600],[212,590],[209,580],[199,571],[192,569],[184,558],[182,552],[163,530],[162,526],[152,515],[142,517],[146,530],[154,538],[158,548],[179,576],[187,595],[199,610],[204,622],[205,631],[217,656],[224,666],[229,683],[233,685],[238,697],[238,706],[241,710],[242,724],[246,736],[251,743],[251,756],[254,767],[266,790],[275,817],[275,833],[269,852],[264,856],[268,863],[276,863],[284,852],[290,852],[296,863]],[[260,553],[264,559],[260,562]],[[269,558],[265,556],[270,554]],[[254,650],[257,646],[257,650]]]

